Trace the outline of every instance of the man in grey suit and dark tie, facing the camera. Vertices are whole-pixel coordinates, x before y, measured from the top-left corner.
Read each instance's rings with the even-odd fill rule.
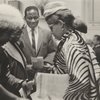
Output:
[[[56,47],[51,31],[39,24],[40,18],[37,7],[27,7],[24,19],[27,25],[20,40],[24,44],[22,50],[29,65],[27,67],[29,79],[33,79],[35,73],[44,71],[43,66],[53,64]]]

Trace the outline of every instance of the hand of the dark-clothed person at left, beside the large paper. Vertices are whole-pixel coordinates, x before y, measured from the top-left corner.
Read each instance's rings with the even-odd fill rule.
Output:
[[[31,94],[31,91],[33,90],[33,85],[35,84],[34,81],[24,81],[22,83],[22,87],[24,91],[26,92],[26,95],[29,96]]]

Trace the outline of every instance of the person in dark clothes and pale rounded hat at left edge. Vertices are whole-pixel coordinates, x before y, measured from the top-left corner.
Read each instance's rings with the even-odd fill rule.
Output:
[[[34,84],[27,80],[25,57],[17,43],[24,24],[16,8],[0,5],[0,84],[17,96],[21,88],[29,95]]]

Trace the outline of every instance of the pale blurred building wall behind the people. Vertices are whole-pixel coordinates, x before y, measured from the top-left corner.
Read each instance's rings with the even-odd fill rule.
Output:
[[[58,0],[0,0],[0,3],[7,3],[18,8],[23,14],[24,9],[29,5],[37,5],[39,9],[48,2]],[[100,34],[100,0],[59,0],[64,1],[66,7],[72,13],[86,22],[88,25],[87,38],[92,38],[95,34]],[[40,11],[41,15],[41,11]]]

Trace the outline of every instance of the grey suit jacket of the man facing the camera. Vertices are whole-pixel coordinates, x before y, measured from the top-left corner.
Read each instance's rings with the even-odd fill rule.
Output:
[[[37,51],[31,46],[27,29],[23,30],[20,40],[23,42],[22,51],[25,54],[27,63],[31,64],[31,57],[42,56],[44,61],[53,64],[53,57],[55,55],[56,46],[52,39],[50,30],[38,26],[38,44]]]

